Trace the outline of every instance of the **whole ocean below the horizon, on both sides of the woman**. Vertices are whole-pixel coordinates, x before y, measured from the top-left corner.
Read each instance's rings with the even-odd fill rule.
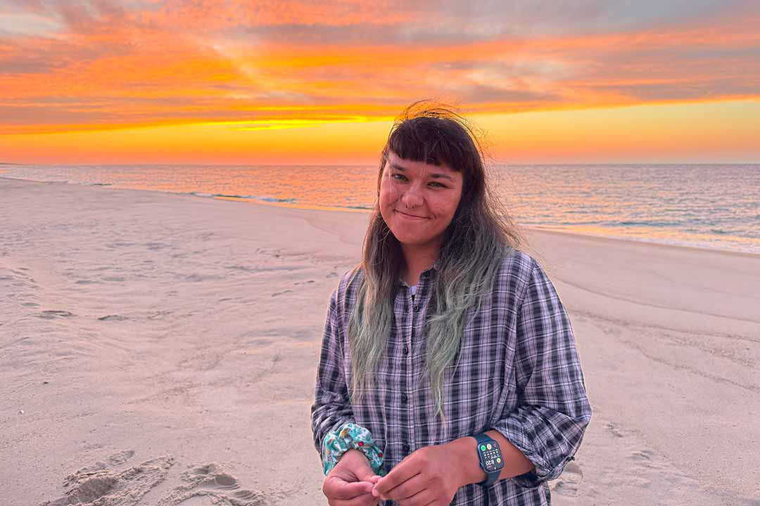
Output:
[[[12,165],[0,177],[369,212],[376,166]],[[518,224],[760,254],[760,165],[494,165]]]

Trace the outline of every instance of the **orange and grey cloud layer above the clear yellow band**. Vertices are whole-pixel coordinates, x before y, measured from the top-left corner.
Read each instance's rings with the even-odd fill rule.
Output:
[[[760,97],[756,2],[476,3],[4,2],[0,133]]]

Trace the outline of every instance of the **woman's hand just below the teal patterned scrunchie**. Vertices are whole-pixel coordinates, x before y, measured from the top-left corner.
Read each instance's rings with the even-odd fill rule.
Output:
[[[325,477],[322,493],[330,506],[375,506],[380,499],[372,495],[372,487],[379,478],[367,457],[350,449]]]

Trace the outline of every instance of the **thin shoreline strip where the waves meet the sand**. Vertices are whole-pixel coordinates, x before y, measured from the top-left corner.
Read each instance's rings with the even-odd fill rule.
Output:
[[[0,173],[2,174],[2,173]],[[125,190],[125,191],[138,191],[138,192],[150,192],[150,193],[160,193],[160,194],[166,194],[166,195],[176,195],[176,196],[190,196],[195,197],[198,199],[206,199],[206,200],[226,200],[230,202],[239,202],[239,203],[248,203],[258,206],[273,206],[273,207],[279,207],[284,209],[302,209],[304,211],[319,211],[319,212],[349,212],[349,213],[359,213],[359,214],[369,214],[371,212],[371,209],[356,209],[356,208],[350,208],[350,207],[340,207],[340,206],[307,206],[297,203],[287,203],[287,202],[269,202],[266,200],[256,200],[256,199],[248,199],[244,197],[237,197],[237,196],[217,196],[217,195],[201,195],[194,192],[174,192],[174,191],[167,191],[167,190],[147,190],[142,188],[121,188],[121,187],[113,187],[111,184],[100,184],[100,183],[69,183],[68,181],[34,181],[30,179],[23,179],[23,178],[6,178],[0,175],[0,180],[11,180],[11,181],[24,181],[25,183],[31,183],[31,184],[74,184],[76,186],[81,187],[101,187],[101,188],[108,188],[110,190]],[[586,234],[582,232],[575,232],[575,231],[568,231],[563,230],[561,228],[551,228],[547,225],[546,228],[540,227],[540,226],[525,226],[520,225],[518,223],[518,230],[519,231],[527,231],[528,234],[538,232],[542,234],[560,234],[560,235],[569,235],[572,237],[586,237],[588,239],[596,239],[596,240],[611,240],[611,241],[622,241],[625,243],[631,243],[631,244],[650,244],[655,247],[671,247],[671,248],[685,248],[686,250],[699,250],[699,251],[709,251],[709,252],[715,252],[715,253],[729,253],[732,255],[738,255],[738,256],[745,256],[748,258],[760,258],[760,252],[755,253],[752,251],[742,251],[742,250],[734,250],[734,249],[727,249],[727,248],[720,248],[720,247],[707,247],[707,246],[701,246],[701,245],[695,245],[695,244],[674,244],[674,243],[668,243],[665,241],[658,241],[655,239],[648,239],[648,238],[637,238],[637,237],[621,237],[618,235],[603,235],[603,234]],[[760,247],[760,241],[758,241],[758,247]]]

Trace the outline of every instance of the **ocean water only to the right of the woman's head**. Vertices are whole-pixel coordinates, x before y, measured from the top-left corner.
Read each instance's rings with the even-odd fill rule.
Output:
[[[760,253],[760,165],[517,165],[494,177],[523,225]]]

